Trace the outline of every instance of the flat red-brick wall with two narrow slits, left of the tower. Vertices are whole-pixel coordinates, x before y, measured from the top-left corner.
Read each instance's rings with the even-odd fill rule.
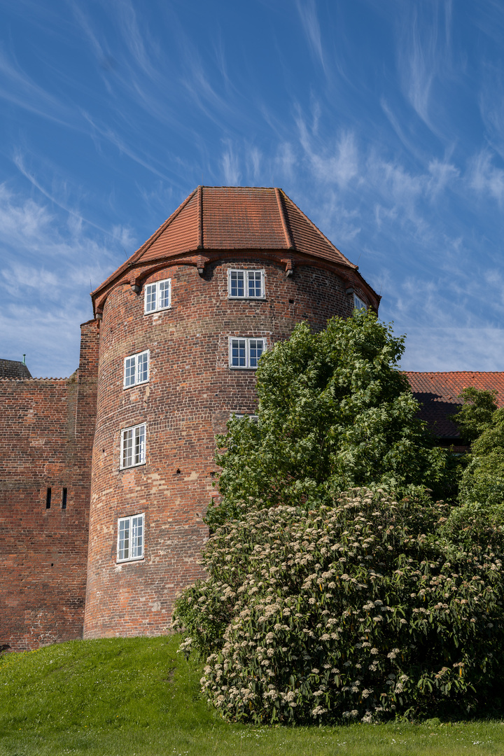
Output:
[[[0,648],[82,637],[97,336],[68,379],[0,380]]]

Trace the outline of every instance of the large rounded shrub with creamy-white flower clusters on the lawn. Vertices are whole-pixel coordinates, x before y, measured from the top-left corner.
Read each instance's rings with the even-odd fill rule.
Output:
[[[366,489],[243,503],[175,609],[209,700],[255,722],[477,711],[502,663],[502,563],[443,540],[448,509]]]

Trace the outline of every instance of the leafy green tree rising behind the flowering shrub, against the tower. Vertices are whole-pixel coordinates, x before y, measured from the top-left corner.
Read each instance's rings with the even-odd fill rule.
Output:
[[[302,323],[262,355],[258,423],[231,420],[218,437],[222,500],[209,525],[248,499],[300,505],[357,485],[397,494],[424,486],[439,495],[447,454],[416,419],[419,405],[397,369],[403,352],[404,336],[360,310],[332,318],[320,333]]]

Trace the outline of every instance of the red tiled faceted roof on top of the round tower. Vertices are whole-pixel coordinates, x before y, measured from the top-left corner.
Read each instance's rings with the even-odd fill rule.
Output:
[[[131,265],[198,249],[285,249],[358,269],[281,189],[205,186],[197,187],[93,296]]]

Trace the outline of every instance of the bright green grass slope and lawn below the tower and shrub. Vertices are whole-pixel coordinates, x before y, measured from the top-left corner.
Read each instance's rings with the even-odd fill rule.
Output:
[[[73,641],[0,658],[0,756],[481,756],[499,721],[348,727],[228,724],[178,638]]]

